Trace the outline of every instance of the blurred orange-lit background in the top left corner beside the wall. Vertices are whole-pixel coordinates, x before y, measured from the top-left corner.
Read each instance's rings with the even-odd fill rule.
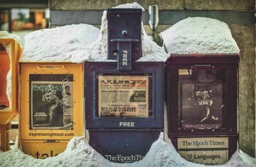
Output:
[[[49,28],[48,0],[0,0],[0,31],[24,36],[36,29]]]

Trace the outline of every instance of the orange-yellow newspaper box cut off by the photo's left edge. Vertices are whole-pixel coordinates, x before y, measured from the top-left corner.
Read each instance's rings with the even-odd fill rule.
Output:
[[[18,61],[22,47],[13,38],[0,38],[1,150],[10,150],[11,121],[18,114]],[[7,91],[6,91],[7,90]]]

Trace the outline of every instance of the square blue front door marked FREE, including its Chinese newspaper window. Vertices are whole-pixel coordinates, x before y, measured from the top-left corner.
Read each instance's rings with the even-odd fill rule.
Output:
[[[87,62],[87,86],[87,128],[163,127],[162,62],[132,62],[125,72],[113,62]],[[124,120],[133,123],[121,125]]]

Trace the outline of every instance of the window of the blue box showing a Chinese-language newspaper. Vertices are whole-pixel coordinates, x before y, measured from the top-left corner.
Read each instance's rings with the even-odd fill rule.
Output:
[[[152,117],[152,77],[98,76],[99,117]]]

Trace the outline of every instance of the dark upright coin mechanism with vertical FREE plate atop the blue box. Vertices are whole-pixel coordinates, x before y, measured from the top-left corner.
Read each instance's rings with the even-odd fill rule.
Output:
[[[118,70],[131,70],[141,54],[141,9],[108,9],[108,60]]]

